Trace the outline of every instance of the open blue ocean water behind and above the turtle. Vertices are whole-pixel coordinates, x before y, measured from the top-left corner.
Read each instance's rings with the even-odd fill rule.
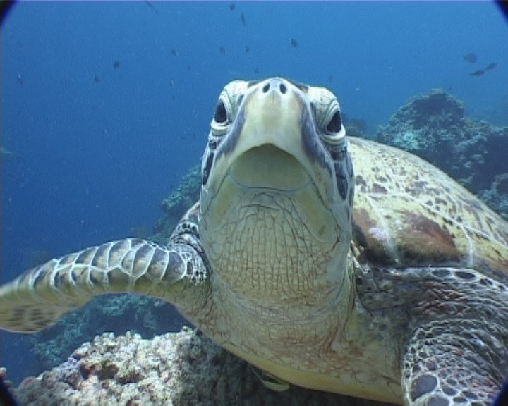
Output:
[[[13,7],[1,26],[1,146],[23,159],[1,156],[2,282],[37,252],[151,230],[159,203],[200,160],[229,80],[329,87],[373,130],[433,87],[508,124],[508,29],[493,3],[230,4]],[[0,334],[0,365],[18,381],[30,347]]]

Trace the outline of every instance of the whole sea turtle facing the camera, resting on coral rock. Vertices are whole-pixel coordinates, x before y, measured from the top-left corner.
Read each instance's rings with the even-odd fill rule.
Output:
[[[508,378],[508,224],[422,159],[346,138],[329,90],[282,78],[224,87],[200,202],[166,247],[37,266],[1,287],[0,327],[111,292],[174,303],[272,387],[484,405]]]

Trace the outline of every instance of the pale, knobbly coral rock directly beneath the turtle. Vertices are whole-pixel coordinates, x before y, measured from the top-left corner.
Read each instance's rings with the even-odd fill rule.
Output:
[[[152,340],[97,336],[59,367],[13,390],[22,405],[382,405],[292,387],[274,392],[199,331]]]

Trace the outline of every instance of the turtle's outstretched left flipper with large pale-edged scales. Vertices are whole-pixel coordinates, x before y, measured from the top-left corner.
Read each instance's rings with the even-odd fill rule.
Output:
[[[0,328],[32,333],[93,296],[139,293],[160,297],[184,311],[202,305],[207,269],[193,245],[167,247],[127,238],[52,259],[0,287]]]

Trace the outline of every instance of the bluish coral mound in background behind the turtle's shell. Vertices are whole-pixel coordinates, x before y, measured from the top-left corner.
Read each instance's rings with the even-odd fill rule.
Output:
[[[508,194],[491,190],[496,177],[507,173],[508,127],[465,117],[461,101],[434,89],[402,106],[374,139],[435,164],[508,219]]]

